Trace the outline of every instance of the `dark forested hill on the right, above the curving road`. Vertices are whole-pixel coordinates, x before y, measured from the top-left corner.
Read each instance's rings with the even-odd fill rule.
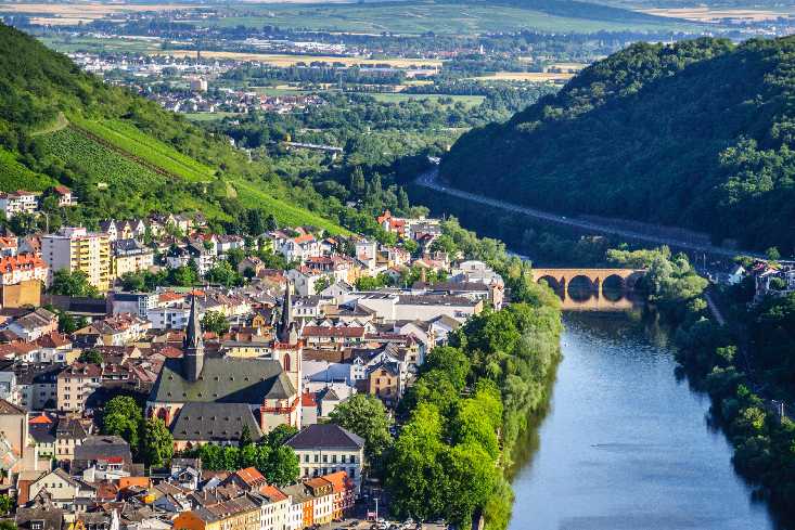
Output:
[[[452,185],[795,247],[795,39],[636,44],[445,157]]]

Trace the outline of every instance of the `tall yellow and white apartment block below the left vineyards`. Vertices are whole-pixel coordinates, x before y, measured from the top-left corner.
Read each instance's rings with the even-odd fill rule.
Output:
[[[91,285],[107,290],[111,285],[111,245],[107,234],[88,232],[85,228],[62,228],[56,234],[41,237],[41,255],[56,271],[82,271]]]

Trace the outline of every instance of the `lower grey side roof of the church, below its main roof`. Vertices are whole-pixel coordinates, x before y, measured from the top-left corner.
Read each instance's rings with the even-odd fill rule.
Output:
[[[175,440],[239,440],[247,426],[254,441],[262,438],[252,408],[245,403],[185,403],[179,412],[171,434]]]

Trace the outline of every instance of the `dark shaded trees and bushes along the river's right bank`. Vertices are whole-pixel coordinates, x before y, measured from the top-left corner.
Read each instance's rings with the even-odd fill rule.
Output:
[[[611,250],[619,266],[644,267],[649,300],[676,328],[677,361],[713,399],[713,413],[734,447],[736,470],[785,517],[795,507],[795,423],[772,400],[792,402],[795,383],[795,295],[749,306],[753,277],[714,293],[726,325],[713,316],[700,277],[683,255]],[[751,261],[751,260],[746,260]],[[747,263],[746,263],[747,264]]]

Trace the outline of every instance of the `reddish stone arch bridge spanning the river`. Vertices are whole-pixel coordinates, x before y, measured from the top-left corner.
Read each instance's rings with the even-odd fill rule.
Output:
[[[643,269],[533,269],[533,281],[546,281],[556,293],[563,295],[563,309],[569,310],[623,310],[630,309],[632,301],[626,296],[619,300],[605,298],[603,286],[608,280],[617,281],[626,294],[634,289],[638,280],[645,274]],[[586,279],[595,297],[588,300],[575,300],[568,288],[575,279]]]

